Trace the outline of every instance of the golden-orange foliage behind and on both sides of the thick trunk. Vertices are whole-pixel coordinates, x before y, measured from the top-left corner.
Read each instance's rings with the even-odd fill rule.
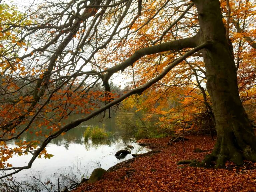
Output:
[[[152,2],[151,5],[146,5],[147,8],[143,14],[149,15],[145,18],[152,17],[156,11],[154,6],[161,6],[157,2]],[[229,37],[233,46],[233,53],[236,62],[238,87],[241,100],[249,115],[249,118],[254,122],[255,126],[255,48],[256,44],[250,37],[255,37],[255,4],[250,1],[229,1],[231,9]],[[152,10],[151,10],[152,8]],[[223,11],[223,22],[227,25],[227,3],[221,1],[221,9]],[[193,9],[192,9],[193,10]],[[163,10],[162,17],[166,10]],[[175,13],[175,11],[173,12]],[[168,20],[154,18],[149,23],[152,26],[159,26],[158,31],[150,33],[150,29],[140,28],[140,25],[134,25],[134,29],[138,30],[137,38],[132,38],[126,42],[129,47],[148,46],[148,42],[168,41],[177,36],[178,29],[173,27],[171,31],[164,31],[164,23]],[[182,19],[183,28],[187,28],[182,37],[191,33],[191,28],[196,27],[197,18],[194,15],[188,14]],[[138,21],[143,23],[143,21]],[[137,26],[137,28],[136,28]],[[163,39],[159,39],[162,33],[166,32]],[[137,41],[140,39],[140,41]],[[251,41],[250,41],[251,40]],[[136,43],[135,43],[136,41]],[[121,54],[129,56],[130,50],[123,50]],[[115,54],[114,52],[112,54]],[[120,55],[120,52],[116,54]],[[128,76],[134,81],[130,83],[131,87],[139,86],[151,78],[157,76],[173,58],[182,55],[181,52],[172,53],[164,52],[156,55],[148,55],[136,63],[136,67]],[[124,56],[124,57],[125,57]],[[188,124],[192,129],[204,129],[207,127],[214,128],[213,119],[211,118],[212,107],[211,99],[206,90],[206,77],[204,63],[200,59],[200,54],[195,54],[195,57],[189,61],[180,63],[175,69],[167,74],[161,81],[157,82],[150,89],[145,91],[140,96],[133,96],[124,102],[127,109],[136,108],[137,111],[143,110],[146,114],[154,114],[159,116],[159,122],[162,127],[171,127],[176,131],[181,131],[182,127]],[[138,101],[140,100],[140,102]],[[130,106],[130,107],[129,107]],[[152,118],[148,115],[147,118]],[[204,122],[205,121],[205,122]],[[207,122],[206,122],[207,121]],[[193,125],[192,125],[193,124]],[[192,127],[191,127],[192,125]],[[210,126],[210,127],[209,127]]]

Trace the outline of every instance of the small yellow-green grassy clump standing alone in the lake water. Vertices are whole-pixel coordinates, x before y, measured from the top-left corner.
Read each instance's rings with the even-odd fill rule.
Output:
[[[106,132],[104,128],[99,128],[99,126],[93,128],[87,127],[86,131],[84,132],[84,139],[107,139],[110,137],[110,135],[110,132]]]

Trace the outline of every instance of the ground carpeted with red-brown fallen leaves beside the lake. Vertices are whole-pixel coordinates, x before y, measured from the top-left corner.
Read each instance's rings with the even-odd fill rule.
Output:
[[[169,138],[140,140],[151,143],[153,151],[117,164],[101,180],[83,183],[72,192],[256,192],[256,163],[245,162],[241,167],[227,163],[225,169],[177,166],[180,160],[202,160],[214,147],[211,137],[187,138],[185,151],[182,142],[167,145]],[[207,152],[194,152],[196,148]]]

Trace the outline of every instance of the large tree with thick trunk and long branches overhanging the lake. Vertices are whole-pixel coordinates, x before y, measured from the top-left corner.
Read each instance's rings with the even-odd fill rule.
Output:
[[[228,1],[225,5],[229,10]],[[1,170],[13,170],[5,176],[30,168],[41,155],[50,158],[45,147],[53,138],[130,95],[140,95],[161,84],[174,67],[190,63],[197,55],[203,57],[218,135],[213,152],[200,165],[215,161],[215,167],[222,167],[227,160],[238,165],[244,159],[256,161],[256,137],[238,92],[237,66],[228,33],[231,15],[221,7],[219,0],[72,0],[31,5],[19,22],[8,24],[8,30],[20,31],[18,50],[9,51],[12,56],[1,61],[8,86],[1,84],[0,166]],[[179,14],[182,8],[185,10]],[[28,17],[34,22],[24,24]],[[178,27],[182,19],[183,25]],[[243,38],[249,41],[245,35]],[[252,41],[250,45],[254,45]],[[154,65],[147,69],[147,63]],[[125,70],[135,82],[138,66],[143,70],[135,87],[120,96],[112,94],[112,76]],[[105,92],[97,88],[100,83]],[[74,112],[86,116],[61,124],[61,119]],[[25,131],[46,139],[40,145],[38,141],[23,141],[19,147],[8,148],[5,141],[17,140]],[[23,167],[5,164],[17,153],[33,156]]]

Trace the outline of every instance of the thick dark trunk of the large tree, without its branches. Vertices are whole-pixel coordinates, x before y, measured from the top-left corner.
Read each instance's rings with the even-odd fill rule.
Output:
[[[225,36],[219,0],[194,0],[200,22],[200,42],[213,40],[202,51],[206,67],[207,90],[215,116],[217,142],[201,165],[227,160],[241,165],[244,159],[256,161],[256,137],[241,103],[234,59]]]

